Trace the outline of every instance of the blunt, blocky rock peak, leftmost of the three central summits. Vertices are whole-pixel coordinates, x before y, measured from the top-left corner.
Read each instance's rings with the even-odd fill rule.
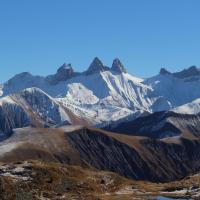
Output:
[[[68,78],[70,78],[74,74],[74,70],[71,66],[71,64],[64,63],[56,73],[56,79],[59,81],[65,81]]]

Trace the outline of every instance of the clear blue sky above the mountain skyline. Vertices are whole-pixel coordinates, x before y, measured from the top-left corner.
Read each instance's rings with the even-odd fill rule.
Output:
[[[0,0],[0,82],[119,57],[135,76],[200,65],[199,0]]]

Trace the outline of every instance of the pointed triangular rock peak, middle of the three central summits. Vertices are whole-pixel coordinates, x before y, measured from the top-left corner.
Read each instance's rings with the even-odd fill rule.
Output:
[[[93,74],[100,71],[106,71],[108,69],[109,68],[104,66],[99,58],[95,57],[92,63],[90,64],[88,70],[86,71],[86,74]]]

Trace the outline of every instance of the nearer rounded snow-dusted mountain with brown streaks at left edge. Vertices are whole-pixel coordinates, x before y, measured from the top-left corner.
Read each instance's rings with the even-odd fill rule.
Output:
[[[84,121],[39,88],[27,88],[0,98],[0,140],[8,137],[13,128],[62,124],[84,124]]]

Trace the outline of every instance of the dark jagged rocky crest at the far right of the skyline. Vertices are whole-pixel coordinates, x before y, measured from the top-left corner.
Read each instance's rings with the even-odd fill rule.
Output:
[[[191,66],[180,72],[173,73],[173,75],[177,78],[188,78],[191,76],[198,76],[198,75],[200,75],[200,69],[196,66]]]

